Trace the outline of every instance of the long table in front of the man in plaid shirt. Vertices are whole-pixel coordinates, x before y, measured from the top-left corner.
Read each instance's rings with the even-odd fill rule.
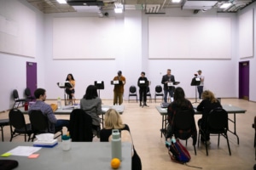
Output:
[[[73,105],[63,106],[61,109],[57,109],[55,111],[55,115],[70,115],[70,113],[73,111],[74,108],[75,106]],[[115,109],[121,115],[125,111],[125,106],[124,105],[102,105],[102,118],[101,118],[102,127],[104,125],[104,115],[109,109]],[[24,110],[24,107],[20,107],[19,110],[22,113],[27,114],[27,111]]]

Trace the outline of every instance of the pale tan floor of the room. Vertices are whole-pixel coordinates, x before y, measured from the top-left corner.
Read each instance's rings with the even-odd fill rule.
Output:
[[[194,102],[195,99],[191,99]],[[112,100],[103,100],[103,105],[112,105]],[[48,100],[47,103],[56,103],[54,100]],[[253,118],[256,116],[256,103],[248,102],[243,99],[221,99],[222,104],[236,105],[247,112],[245,114],[236,115],[236,130],[240,138],[240,144],[237,144],[236,137],[232,133],[228,133],[230,139],[231,156],[229,155],[226,140],[222,137],[220,145],[217,146],[218,137],[211,137],[209,147],[209,156],[206,155],[206,149],[203,144],[196,147],[197,156],[195,156],[192,146],[192,139],[188,140],[187,149],[191,155],[191,161],[188,165],[202,167],[202,169],[243,169],[252,170],[255,161],[255,150],[253,147],[254,129],[252,128]],[[63,102],[64,104],[64,102]],[[131,135],[135,144],[138,155],[142,159],[144,170],[158,169],[196,169],[187,167],[170,160],[165,146],[165,139],[160,138],[161,116],[156,111],[155,106],[160,105],[160,100],[157,103],[148,102],[149,107],[139,107],[139,104],[132,100],[130,103],[125,101],[125,111],[122,115],[123,122],[131,128]],[[0,119],[7,118],[8,111],[0,113]],[[59,119],[69,119],[69,116],[57,115]],[[196,115],[195,121],[201,118]],[[233,115],[230,115],[233,118]],[[26,121],[28,120],[26,116]],[[233,125],[230,123],[230,128]],[[67,129],[65,129],[67,130]],[[9,127],[4,127],[4,141],[9,141]],[[23,137],[18,137],[13,142],[22,141]],[[94,139],[94,142],[99,142],[99,139]],[[182,141],[183,144],[184,141]],[[1,142],[0,142],[1,146]],[[2,154],[2,153],[0,153]]]

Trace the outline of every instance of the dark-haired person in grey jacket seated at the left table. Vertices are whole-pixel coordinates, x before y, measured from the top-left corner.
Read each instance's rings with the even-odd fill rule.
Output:
[[[80,100],[80,108],[91,116],[93,133],[99,137],[101,130],[100,115],[102,115],[102,99],[98,97],[96,86],[89,85],[86,88],[84,97]]]

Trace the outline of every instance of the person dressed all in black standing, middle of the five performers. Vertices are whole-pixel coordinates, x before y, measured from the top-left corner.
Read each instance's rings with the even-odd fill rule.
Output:
[[[145,77],[145,72],[141,73],[141,77],[137,80],[137,86],[140,88],[140,106],[143,105],[147,106],[147,88],[148,88],[148,78]]]

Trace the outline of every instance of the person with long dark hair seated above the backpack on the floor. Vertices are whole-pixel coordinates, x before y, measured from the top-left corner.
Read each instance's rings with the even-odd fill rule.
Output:
[[[167,120],[169,124],[166,129],[166,139],[172,138],[172,134],[173,134],[172,127],[173,127],[173,120],[174,120],[173,118],[176,114],[178,114],[178,111],[189,110],[191,111],[191,113],[193,113],[193,116],[195,115],[193,105],[191,104],[189,99],[185,99],[185,93],[183,91],[183,88],[177,87],[175,89],[173,99],[174,101],[172,101],[172,103],[167,107]],[[192,129],[191,132],[189,132],[189,134],[191,134],[193,137],[193,140],[196,141],[196,136],[197,136],[196,126],[194,126],[194,128]]]

